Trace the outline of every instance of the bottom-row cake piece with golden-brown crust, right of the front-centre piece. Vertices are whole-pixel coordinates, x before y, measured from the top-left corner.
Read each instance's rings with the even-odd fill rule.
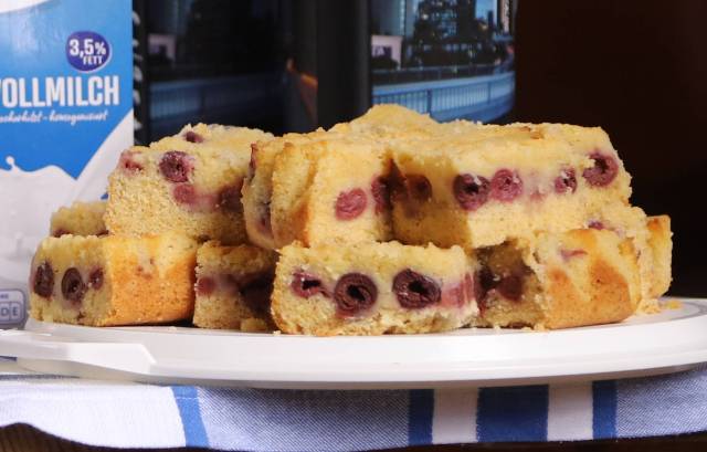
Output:
[[[641,302],[633,241],[613,231],[538,233],[532,240],[492,248],[487,265],[494,265],[497,253],[508,250],[511,257],[500,267],[523,265],[523,296],[508,301],[492,293],[490,301],[479,303],[478,326],[557,329],[615,323],[635,313]]]

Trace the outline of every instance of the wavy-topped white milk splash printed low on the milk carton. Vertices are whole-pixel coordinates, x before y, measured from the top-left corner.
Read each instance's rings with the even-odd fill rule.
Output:
[[[24,283],[52,212],[68,203],[76,180],[53,165],[23,171],[14,158],[6,161],[10,169],[0,169],[0,269],[6,278]]]

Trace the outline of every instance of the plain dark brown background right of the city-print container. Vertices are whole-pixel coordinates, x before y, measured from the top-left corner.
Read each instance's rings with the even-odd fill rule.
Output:
[[[672,295],[707,296],[706,19],[699,0],[518,3],[515,118],[606,130],[633,203],[673,219]]]

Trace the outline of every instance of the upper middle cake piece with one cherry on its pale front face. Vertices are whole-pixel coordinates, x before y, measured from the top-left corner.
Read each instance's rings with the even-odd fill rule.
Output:
[[[386,147],[365,137],[287,143],[273,168],[275,246],[391,240],[389,168]]]

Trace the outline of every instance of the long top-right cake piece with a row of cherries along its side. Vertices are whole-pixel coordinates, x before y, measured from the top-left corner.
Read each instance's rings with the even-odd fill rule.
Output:
[[[606,206],[629,209],[630,176],[599,128],[454,130],[389,143],[393,229],[405,243],[471,251],[535,231],[587,228]]]

